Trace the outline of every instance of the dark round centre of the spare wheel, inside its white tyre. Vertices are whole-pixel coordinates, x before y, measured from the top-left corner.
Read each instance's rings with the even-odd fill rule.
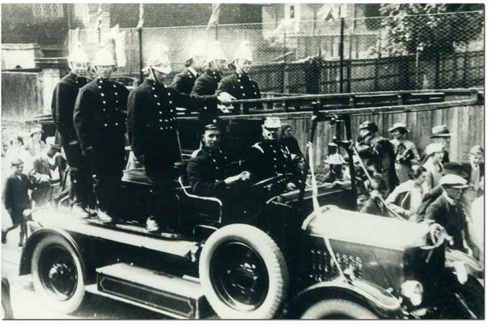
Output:
[[[266,299],[269,275],[260,254],[242,242],[229,242],[217,250],[210,265],[216,294],[238,311],[257,309]]]

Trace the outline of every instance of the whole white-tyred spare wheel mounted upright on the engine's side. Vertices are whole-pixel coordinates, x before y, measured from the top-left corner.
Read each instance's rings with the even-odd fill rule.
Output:
[[[270,319],[287,294],[288,270],[278,245],[266,233],[233,224],[206,240],[200,280],[221,318]]]

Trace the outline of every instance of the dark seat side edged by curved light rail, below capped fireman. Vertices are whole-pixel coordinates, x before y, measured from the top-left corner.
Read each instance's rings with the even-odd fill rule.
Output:
[[[190,193],[191,186],[184,185],[183,176],[179,176],[179,186],[185,195],[187,206],[183,208],[183,214],[196,216],[205,220],[222,223],[223,202],[219,198],[200,196]]]

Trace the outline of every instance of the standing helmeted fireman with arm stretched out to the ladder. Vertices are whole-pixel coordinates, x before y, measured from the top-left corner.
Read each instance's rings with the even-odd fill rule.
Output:
[[[176,107],[217,108],[217,96],[191,96],[164,84],[171,72],[167,47],[156,45],[147,59],[148,78],[131,91],[127,132],[137,159],[145,166],[154,193],[147,229],[175,230],[174,163],[179,161]],[[164,221],[165,219],[165,221]]]

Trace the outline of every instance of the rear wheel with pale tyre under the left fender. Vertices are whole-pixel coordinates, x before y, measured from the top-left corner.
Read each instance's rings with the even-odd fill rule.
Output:
[[[83,266],[64,238],[50,235],[39,241],[32,253],[31,271],[36,293],[56,311],[73,313],[84,302]]]

